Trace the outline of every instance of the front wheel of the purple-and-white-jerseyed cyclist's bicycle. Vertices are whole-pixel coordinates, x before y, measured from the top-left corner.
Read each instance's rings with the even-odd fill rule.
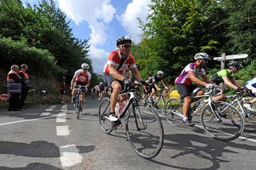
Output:
[[[214,112],[221,117],[221,121],[214,116],[210,105],[206,105],[202,109],[200,117],[204,130],[218,140],[226,141],[238,138],[244,129],[242,114],[238,112],[238,109],[222,101],[214,102],[213,107]]]

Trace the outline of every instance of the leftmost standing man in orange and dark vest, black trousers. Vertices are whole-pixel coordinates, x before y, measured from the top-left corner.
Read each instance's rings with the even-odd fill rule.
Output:
[[[8,111],[21,111],[19,109],[19,96],[22,90],[21,78],[18,75],[18,65],[12,65],[7,74],[7,91],[10,94]]]

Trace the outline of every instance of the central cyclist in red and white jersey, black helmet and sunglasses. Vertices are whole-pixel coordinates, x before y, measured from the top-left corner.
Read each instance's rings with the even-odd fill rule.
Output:
[[[113,89],[110,96],[110,115],[106,117],[110,121],[118,121],[114,108],[115,105],[117,105],[118,94],[121,92],[123,85],[129,83],[128,79],[125,77],[126,68],[129,66],[134,73],[135,79],[142,82],[142,77],[138,72],[134,56],[130,53],[131,42],[130,38],[126,36],[118,38],[118,49],[110,53],[103,70],[103,80]],[[126,100],[127,97],[123,96],[120,105]]]

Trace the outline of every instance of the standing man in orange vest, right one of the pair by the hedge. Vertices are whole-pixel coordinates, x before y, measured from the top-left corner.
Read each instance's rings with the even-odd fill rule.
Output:
[[[19,70],[18,75],[21,77],[22,81],[22,93],[21,98],[19,101],[19,108],[22,109],[24,106],[24,102],[26,100],[27,93],[29,92],[29,89],[31,87],[30,84],[30,75],[28,73],[28,66],[26,64],[21,65],[21,70]]]

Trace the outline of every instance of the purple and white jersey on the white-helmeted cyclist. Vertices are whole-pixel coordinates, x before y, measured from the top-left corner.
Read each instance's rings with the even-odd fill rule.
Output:
[[[200,68],[199,65],[197,65],[196,62],[194,62],[186,65],[186,67],[182,70],[182,73],[175,79],[174,83],[187,86],[191,85],[192,81],[189,77],[190,71],[194,72],[196,77],[206,75],[205,69]]]

